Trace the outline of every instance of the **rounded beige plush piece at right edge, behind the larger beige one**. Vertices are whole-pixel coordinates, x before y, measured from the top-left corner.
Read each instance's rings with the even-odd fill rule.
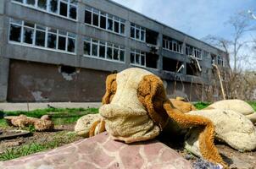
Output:
[[[241,100],[224,100],[217,101],[208,106],[206,109],[222,109],[231,110],[235,112],[242,113],[253,123],[256,123],[256,112],[254,112],[253,107],[247,102]]]

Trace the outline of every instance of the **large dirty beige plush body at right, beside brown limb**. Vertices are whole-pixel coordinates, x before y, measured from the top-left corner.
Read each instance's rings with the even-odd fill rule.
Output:
[[[220,109],[192,111],[188,114],[209,118],[215,126],[215,138],[231,145],[234,149],[254,150],[256,148],[256,128],[242,114]],[[191,133],[196,132],[192,130]],[[190,139],[192,140],[192,138]],[[186,148],[194,146],[192,141],[189,142],[187,140],[189,138],[186,139]]]

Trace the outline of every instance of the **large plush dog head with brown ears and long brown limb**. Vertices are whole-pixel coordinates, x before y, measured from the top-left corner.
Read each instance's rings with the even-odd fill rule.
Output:
[[[155,138],[169,119],[182,128],[202,128],[198,139],[200,154],[208,161],[227,167],[214,145],[214,123],[206,117],[176,109],[166,96],[162,80],[147,70],[128,68],[109,75],[99,113],[102,120],[93,123],[90,136],[105,128],[113,139],[125,143]],[[170,139],[172,137],[175,136]]]

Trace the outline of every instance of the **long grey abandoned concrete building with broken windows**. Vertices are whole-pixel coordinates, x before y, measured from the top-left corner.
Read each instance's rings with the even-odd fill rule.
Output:
[[[107,75],[131,67],[195,101],[212,63],[226,67],[220,49],[110,0],[1,0],[0,37],[0,101],[101,101]]]

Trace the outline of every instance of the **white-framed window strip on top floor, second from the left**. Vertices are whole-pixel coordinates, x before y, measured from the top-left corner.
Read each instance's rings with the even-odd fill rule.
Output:
[[[125,20],[112,14],[106,14],[96,8],[86,7],[85,24],[93,25],[103,30],[125,35]]]

